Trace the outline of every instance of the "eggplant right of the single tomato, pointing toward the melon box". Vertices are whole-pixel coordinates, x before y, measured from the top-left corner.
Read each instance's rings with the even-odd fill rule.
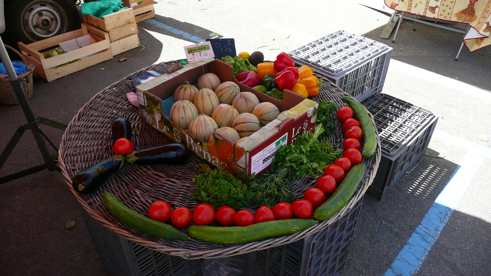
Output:
[[[136,158],[135,161],[130,161],[136,165],[181,165],[189,160],[190,155],[189,148],[180,143],[172,143],[138,150],[129,159]]]

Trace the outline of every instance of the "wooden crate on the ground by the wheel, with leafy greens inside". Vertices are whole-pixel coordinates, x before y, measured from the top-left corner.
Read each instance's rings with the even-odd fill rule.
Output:
[[[44,55],[47,54],[49,50],[39,52],[46,49],[51,50],[58,46],[58,44],[61,42],[82,37],[87,34],[94,38],[97,42],[50,58],[44,58]],[[19,45],[21,54],[27,59],[27,61],[34,64],[34,73],[48,82],[112,58],[109,34],[85,23],[82,23],[82,28],[78,30],[66,32],[28,45],[22,42],[18,42],[17,44]],[[65,66],[56,67],[63,63],[70,62],[86,55],[95,54],[100,51],[103,52]]]

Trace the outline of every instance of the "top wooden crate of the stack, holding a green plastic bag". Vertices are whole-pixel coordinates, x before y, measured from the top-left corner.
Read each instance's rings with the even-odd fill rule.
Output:
[[[105,15],[102,17],[102,19],[99,19],[90,14],[82,15],[82,19],[85,23],[88,23],[102,30],[109,31],[117,27],[125,26],[130,23],[135,23],[135,12],[132,8],[128,8],[122,11],[117,11]]]

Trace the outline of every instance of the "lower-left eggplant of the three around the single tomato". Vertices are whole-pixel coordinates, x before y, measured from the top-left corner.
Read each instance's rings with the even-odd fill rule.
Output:
[[[109,176],[118,171],[121,162],[111,157],[94,166],[82,169],[72,180],[73,189],[82,194],[94,192]]]

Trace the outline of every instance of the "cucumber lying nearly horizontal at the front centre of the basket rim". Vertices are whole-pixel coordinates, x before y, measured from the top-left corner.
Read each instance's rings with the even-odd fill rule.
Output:
[[[188,234],[191,238],[209,243],[224,245],[238,244],[277,235],[297,233],[310,226],[314,226],[315,223],[317,223],[317,221],[290,219],[259,222],[245,227],[192,225],[188,229]]]

